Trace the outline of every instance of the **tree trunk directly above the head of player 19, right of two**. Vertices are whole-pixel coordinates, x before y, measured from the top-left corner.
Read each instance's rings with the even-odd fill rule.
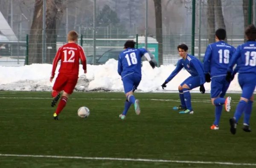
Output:
[[[217,28],[224,28],[226,30],[223,12],[222,12],[221,0],[215,0],[215,16],[217,21]],[[225,42],[227,42],[227,37],[225,39]]]

